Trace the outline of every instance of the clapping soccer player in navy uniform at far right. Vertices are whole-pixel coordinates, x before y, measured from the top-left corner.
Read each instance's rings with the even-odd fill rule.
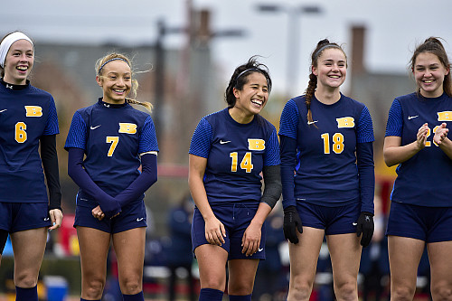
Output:
[[[392,102],[383,155],[397,166],[386,234],[391,300],[411,300],[427,245],[433,300],[452,300],[452,82],[447,52],[430,37],[414,51],[418,90]]]

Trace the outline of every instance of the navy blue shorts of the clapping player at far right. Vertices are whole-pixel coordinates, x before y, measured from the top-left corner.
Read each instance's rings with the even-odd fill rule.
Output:
[[[386,235],[426,242],[452,240],[452,208],[391,202]]]

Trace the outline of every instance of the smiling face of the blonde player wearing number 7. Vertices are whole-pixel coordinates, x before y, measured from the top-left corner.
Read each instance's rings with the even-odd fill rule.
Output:
[[[126,61],[109,61],[96,77],[103,90],[103,101],[121,104],[132,87],[132,71]]]

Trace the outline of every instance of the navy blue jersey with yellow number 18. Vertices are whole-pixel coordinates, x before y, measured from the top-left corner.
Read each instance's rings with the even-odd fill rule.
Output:
[[[287,200],[283,195],[283,204],[295,205],[295,198],[324,206],[363,202],[362,211],[373,212],[373,194],[369,200],[361,200],[363,180],[355,155],[357,144],[374,141],[369,110],[363,103],[341,94],[341,99],[332,105],[313,97],[311,111],[313,121],[309,122],[305,97],[299,96],[288,100],[281,114],[279,135],[297,141],[295,171],[290,171],[295,172],[295,188],[286,187],[294,191],[294,199]],[[373,174],[373,161],[370,165]]]

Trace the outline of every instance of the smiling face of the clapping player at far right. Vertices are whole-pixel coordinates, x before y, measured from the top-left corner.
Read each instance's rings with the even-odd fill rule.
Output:
[[[413,74],[420,94],[427,98],[437,98],[443,94],[444,78],[448,74],[438,56],[430,52],[419,53],[414,63]]]

